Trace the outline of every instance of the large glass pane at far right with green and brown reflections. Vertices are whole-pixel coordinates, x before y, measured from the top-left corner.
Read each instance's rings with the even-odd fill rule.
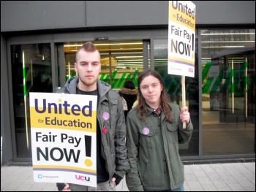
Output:
[[[255,153],[255,29],[200,35],[203,155]]]

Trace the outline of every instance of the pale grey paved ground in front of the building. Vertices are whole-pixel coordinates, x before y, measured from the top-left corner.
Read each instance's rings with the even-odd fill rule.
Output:
[[[255,191],[255,161],[185,164],[185,191]],[[35,183],[32,166],[1,166],[1,191],[58,191],[56,183]],[[129,191],[124,180],[116,191]]]

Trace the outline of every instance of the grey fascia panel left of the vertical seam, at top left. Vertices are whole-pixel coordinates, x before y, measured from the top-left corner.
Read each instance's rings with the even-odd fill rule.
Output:
[[[86,1],[1,1],[1,32],[86,26]]]

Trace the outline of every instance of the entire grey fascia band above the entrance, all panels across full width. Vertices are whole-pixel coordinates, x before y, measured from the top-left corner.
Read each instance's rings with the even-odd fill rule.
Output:
[[[255,23],[255,1],[193,1],[197,24]],[[1,32],[168,23],[169,1],[1,1]]]

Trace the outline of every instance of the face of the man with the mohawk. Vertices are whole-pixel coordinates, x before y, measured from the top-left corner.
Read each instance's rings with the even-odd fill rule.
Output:
[[[75,63],[75,71],[78,72],[83,85],[96,85],[100,69],[100,55],[97,50],[94,52],[79,51],[77,63]]]

